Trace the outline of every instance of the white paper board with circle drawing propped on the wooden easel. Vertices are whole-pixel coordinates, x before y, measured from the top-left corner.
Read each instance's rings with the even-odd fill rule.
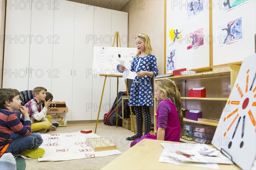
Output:
[[[136,53],[137,48],[96,46],[93,48],[93,74],[122,75],[119,66],[129,69]]]

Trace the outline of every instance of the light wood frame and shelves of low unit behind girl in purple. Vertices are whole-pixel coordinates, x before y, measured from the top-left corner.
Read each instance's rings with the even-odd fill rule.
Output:
[[[207,72],[199,72],[199,73],[194,73],[194,74],[186,74],[186,75],[181,75],[181,76],[175,76],[175,77],[163,77],[163,78],[158,78],[155,79],[156,81],[159,81],[161,79],[171,79],[173,81],[183,81],[183,80],[201,80],[201,79],[212,79],[212,78],[229,78],[230,79],[230,85],[231,85],[231,91],[233,89],[234,83],[236,81],[236,77],[238,75],[239,69],[224,69],[224,70],[219,70],[219,71],[207,71]],[[181,99],[186,99],[186,100],[198,100],[199,102],[201,101],[227,101],[228,98],[222,98],[222,97],[206,97],[206,98],[198,98],[198,97],[187,97],[187,96],[182,96]],[[156,135],[157,133],[157,106],[158,106],[157,100],[154,101],[154,134]],[[214,113],[213,113],[214,114]],[[203,113],[204,115],[204,113]],[[204,116],[203,116],[204,117]],[[210,126],[218,126],[218,121],[216,122],[204,122],[204,121],[194,121],[194,120],[189,120],[184,118],[183,119],[185,122],[192,122],[196,124],[201,124],[201,125],[210,125]],[[184,142],[191,142],[191,141],[186,141],[185,139],[182,139],[181,141]],[[196,142],[195,142],[196,143]]]

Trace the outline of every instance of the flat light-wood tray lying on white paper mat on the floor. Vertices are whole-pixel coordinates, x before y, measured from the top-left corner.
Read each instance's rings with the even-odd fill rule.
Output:
[[[113,144],[110,139],[99,137],[99,138],[87,138],[86,142],[92,147],[95,151],[103,150],[114,150],[117,149],[116,145]]]

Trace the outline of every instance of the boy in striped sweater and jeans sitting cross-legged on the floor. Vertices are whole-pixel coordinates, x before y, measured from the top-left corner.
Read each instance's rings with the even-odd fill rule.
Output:
[[[19,95],[20,92],[16,89],[0,89],[0,156],[12,153],[37,159],[45,152],[39,148],[43,139],[40,133],[31,133],[29,113],[20,105]],[[23,123],[13,113],[15,110],[19,110],[24,116]]]

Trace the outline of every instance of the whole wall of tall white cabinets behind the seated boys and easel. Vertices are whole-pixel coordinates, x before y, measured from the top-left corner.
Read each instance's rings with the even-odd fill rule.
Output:
[[[96,120],[104,77],[92,74],[93,46],[111,47],[119,31],[127,47],[128,14],[67,0],[22,3],[26,9],[6,9],[3,88],[43,86],[54,101],[66,102],[68,121]],[[119,80],[119,91],[125,91]],[[115,97],[116,78],[108,78],[99,119]]]

